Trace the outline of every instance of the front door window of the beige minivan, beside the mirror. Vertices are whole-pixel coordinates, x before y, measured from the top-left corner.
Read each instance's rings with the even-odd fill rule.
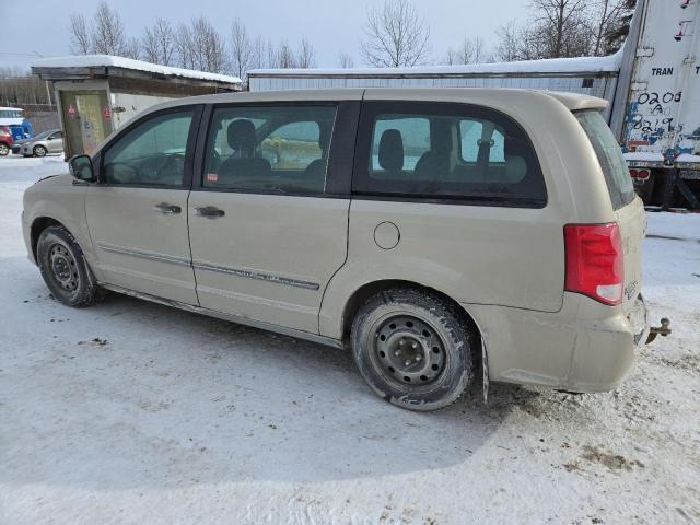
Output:
[[[182,186],[194,109],[166,113],[127,131],[103,160],[106,184]]]

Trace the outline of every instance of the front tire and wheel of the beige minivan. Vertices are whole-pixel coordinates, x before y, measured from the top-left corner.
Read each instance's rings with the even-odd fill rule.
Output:
[[[82,308],[103,296],[82,249],[62,226],[49,226],[39,235],[36,259],[44,282],[61,303]]]

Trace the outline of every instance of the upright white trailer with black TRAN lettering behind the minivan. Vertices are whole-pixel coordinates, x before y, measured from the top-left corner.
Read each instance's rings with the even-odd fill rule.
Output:
[[[637,190],[664,209],[700,209],[699,14],[698,0],[640,2],[612,106]]]

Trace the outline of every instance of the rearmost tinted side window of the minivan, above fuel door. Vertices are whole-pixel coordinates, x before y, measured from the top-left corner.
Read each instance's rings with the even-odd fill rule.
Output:
[[[492,206],[544,207],[535,150],[510,117],[468,104],[369,102],[352,190]]]

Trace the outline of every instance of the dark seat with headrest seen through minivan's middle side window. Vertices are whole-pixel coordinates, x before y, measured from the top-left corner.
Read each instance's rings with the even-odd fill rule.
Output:
[[[264,178],[271,174],[269,161],[255,155],[257,138],[255,126],[247,118],[240,118],[229,125],[226,140],[233,154],[219,168],[218,185],[235,186],[240,179]]]

